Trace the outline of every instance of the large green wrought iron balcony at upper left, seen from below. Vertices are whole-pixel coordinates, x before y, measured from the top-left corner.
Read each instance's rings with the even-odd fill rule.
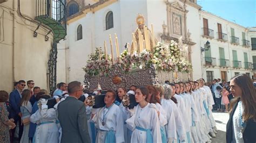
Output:
[[[35,19],[51,28],[55,42],[66,36],[65,11],[65,1],[63,0],[36,0]]]

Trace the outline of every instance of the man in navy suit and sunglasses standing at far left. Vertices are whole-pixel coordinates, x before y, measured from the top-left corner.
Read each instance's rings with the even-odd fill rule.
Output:
[[[13,90],[9,96],[9,101],[11,105],[11,112],[10,112],[11,117],[14,118],[14,123],[16,124],[16,126],[17,126],[17,122],[19,122],[19,141],[21,140],[22,133],[23,133],[23,125],[21,125],[22,113],[19,107],[20,107],[20,102],[22,97],[21,93],[22,93],[22,90],[25,88],[25,86],[26,86],[26,82],[24,80],[18,81],[17,88]],[[14,140],[15,129],[16,128],[11,130],[11,140]]]

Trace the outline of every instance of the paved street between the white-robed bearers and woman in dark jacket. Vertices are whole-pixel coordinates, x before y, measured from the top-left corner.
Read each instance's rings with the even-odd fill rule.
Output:
[[[216,138],[212,138],[212,143],[225,143],[226,142],[226,124],[229,114],[225,112],[213,112],[213,117],[216,121],[218,133]]]

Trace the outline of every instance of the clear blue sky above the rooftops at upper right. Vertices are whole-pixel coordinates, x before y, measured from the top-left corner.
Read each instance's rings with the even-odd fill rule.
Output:
[[[256,0],[197,0],[203,10],[244,27],[256,27]]]

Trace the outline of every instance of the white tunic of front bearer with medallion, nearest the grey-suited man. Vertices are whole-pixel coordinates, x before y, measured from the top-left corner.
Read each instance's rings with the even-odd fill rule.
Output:
[[[105,116],[103,120],[103,114]],[[92,118],[95,127],[98,128],[96,142],[105,142],[107,131],[114,131],[116,142],[124,142],[124,122],[122,111],[116,104],[112,104],[110,108],[100,108],[96,115]],[[102,124],[104,121],[105,125]]]

